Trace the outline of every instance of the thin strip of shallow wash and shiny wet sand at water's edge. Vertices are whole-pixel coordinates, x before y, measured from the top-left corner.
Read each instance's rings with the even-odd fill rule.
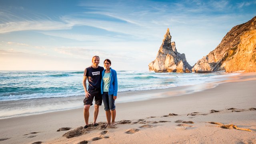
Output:
[[[235,76],[226,74],[224,77],[220,78],[221,80],[218,80],[217,78],[214,81],[206,82],[204,84],[176,86],[152,90],[118,92],[118,100],[116,101],[116,104],[144,101],[154,98],[173,97],[183,94],[200,92],[209,88],[214,88],[218,84],[225,82],[231,77],[237,77],[240,75],[240,73],[234,74]],[[158,96],[156,96],[156,93],[158,93]],[[83,97],[84,96],[81,95],[58,98],[36,98],[28,100],[0,101],[0,120],[82,108]]]

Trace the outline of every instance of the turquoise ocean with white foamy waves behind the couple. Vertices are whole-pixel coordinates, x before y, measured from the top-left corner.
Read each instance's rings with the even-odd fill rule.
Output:
[[[0,118],[82,107],[79,97],[84,96],[83,74],[83,71],[0,71]],[[200,85],[233,75],[238,74],[117,71],[118,93]],[[145,99],[118,97],[116,103]]]

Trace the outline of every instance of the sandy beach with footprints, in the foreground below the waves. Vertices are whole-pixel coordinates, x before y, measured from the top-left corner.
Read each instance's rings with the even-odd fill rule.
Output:
[[[191,93],[202,86],[206,89]],[[253,72],[218,84],[122,92],[119,95],[154,98],[117,103],[117,124],[112,127],[105,127],[104,106],[100,107],[99,126],[87,129],[81,128],[83,108],[1,119],[0,143],[256,144],[255,86]]]

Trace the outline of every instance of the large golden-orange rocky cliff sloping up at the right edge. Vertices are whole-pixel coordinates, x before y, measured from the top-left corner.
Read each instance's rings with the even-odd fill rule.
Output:
[[[220,44],[192,68],[193,72],[256,72],[256,16],[234,26]]]

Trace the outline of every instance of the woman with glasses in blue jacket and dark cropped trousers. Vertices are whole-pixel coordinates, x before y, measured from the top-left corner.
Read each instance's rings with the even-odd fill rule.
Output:
[[[114,126],[116,118],[117,76],[116,71],[110,68],[110,66],[111,61],[109,59],[104,60],[105,70],[102,71],[101,94],[108,125]],[[112,122],[110,123],[111,118]]]

